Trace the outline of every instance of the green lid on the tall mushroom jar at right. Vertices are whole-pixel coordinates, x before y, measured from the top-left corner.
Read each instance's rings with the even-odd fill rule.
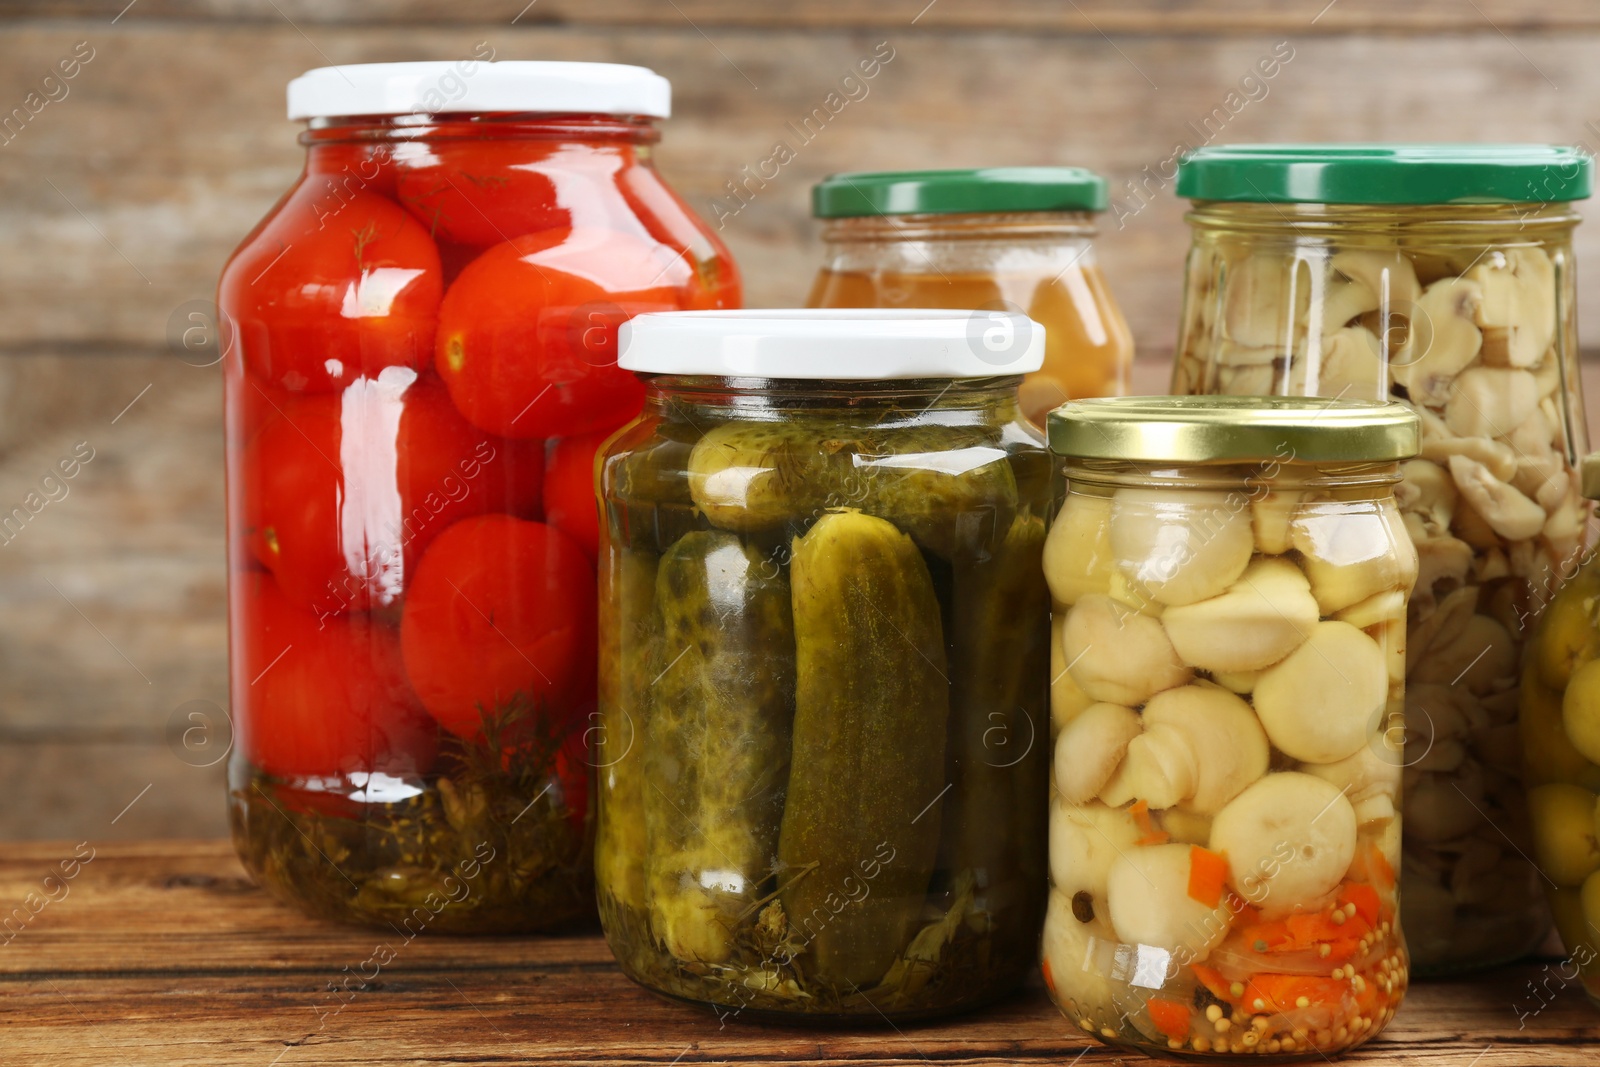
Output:
[[[1594,163],[1555,144],[1229,144],[1178,165],[1178,195],[1256,203],[1586,200]]]

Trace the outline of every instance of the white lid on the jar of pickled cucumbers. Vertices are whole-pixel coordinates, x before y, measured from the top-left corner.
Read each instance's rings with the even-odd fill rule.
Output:
[[[1045,328],[1002,310],[653,312],[622,323],[618,365],[714,378],[994,378],[1037,371]]]

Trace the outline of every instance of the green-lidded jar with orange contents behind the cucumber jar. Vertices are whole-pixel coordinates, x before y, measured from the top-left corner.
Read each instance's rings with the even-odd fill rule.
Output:
[[[834,174],[811,190],[827,261],[811,307],[1022,312],[1045,365],[1022,378],[1037,427],[1070,397],[1128,392],[1133,333],[1094,258],[1106,179],[1080,166]]]

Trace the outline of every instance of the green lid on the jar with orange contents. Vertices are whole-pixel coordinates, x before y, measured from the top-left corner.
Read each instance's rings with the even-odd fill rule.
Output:
[[[862,214],[1104,211],[1106,179],[1082,166],[986,166],[962,171],[858,171],[811,187],[819,219]]]

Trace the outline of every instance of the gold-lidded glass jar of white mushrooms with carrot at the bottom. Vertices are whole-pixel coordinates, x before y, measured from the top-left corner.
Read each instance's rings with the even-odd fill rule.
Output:
[[[1323,1056],[1408,984],[1400,405],[1085,400],[1051,640],[1045,984],[1149,1053]]]

